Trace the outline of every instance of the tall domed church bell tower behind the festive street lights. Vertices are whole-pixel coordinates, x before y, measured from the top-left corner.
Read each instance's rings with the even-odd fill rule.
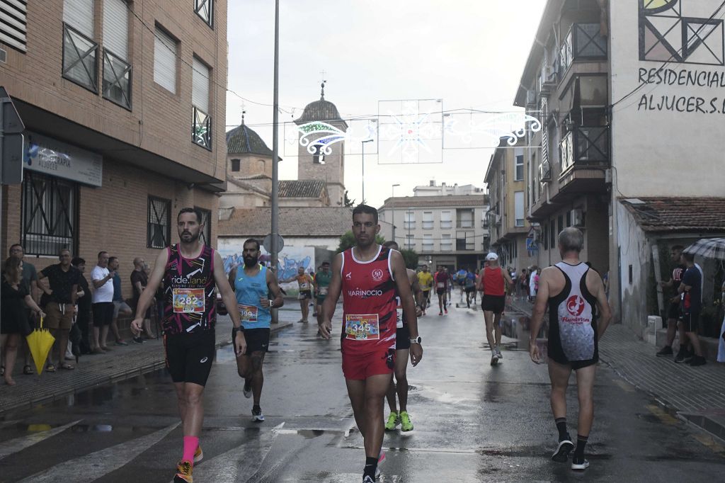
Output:
[[[333,126],[340,135],[344,135],[347,131],[347,123],[340,117],[335,104],[325,100],[324,82],[320,100],[307,104],[302,116],[294,122],[298,126],[302,126],[314,121]],[[330,131],[320,131],[318,133],[316,130],[312,130],[307,135],[299,132],[298,141],[303,141],[304,138],[304,141],[308,141],[309,144],[306,146],[302,146],[301,143],[297,144],[299,153],[297,158],[297,179],[325,181],[330,196],[330,205],[342,206],[345,194],[345,143],[344,141],[338,141],[328,146],[313,146],[316,139],[331,135],[334,136],[334,133]]]

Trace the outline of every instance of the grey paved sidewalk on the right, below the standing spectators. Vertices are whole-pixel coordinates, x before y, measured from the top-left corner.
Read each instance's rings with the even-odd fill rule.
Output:
[[[532,305],[513,302],[531,316]],[[690,367],[658,358],[652,344],[621,324],[608,327],[599,344],[600,359],[619,376],[652,395],[669,413],[725,439],[725,368],[718,363]]]

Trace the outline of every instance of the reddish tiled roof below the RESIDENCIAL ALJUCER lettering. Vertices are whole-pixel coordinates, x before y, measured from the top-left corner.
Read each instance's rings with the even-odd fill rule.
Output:
[[[619,198],[644,231],[725,231],[725,198]]]

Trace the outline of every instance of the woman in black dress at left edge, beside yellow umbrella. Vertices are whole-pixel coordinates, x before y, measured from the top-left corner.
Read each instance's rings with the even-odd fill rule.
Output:
[[[22,284],[22,260],[18,257],[8,257],[5,260],[2,286],[0,288],[0,350],[2,350],[6,366],[2,375],[5,384],[14,386],[12,370],[17,358],[17,346],[28,325],[25,307],[30,307],[43,316],[43,311],[30,297],[28,289]]]

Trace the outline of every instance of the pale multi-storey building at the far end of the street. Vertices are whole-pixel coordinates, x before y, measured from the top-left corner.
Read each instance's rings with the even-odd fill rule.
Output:
[[[484,194],[447,194],[390,197],[378,215],[385,239],[415,250],[419,264],[458,270],[483,265],[489,249],[487,211]]]

